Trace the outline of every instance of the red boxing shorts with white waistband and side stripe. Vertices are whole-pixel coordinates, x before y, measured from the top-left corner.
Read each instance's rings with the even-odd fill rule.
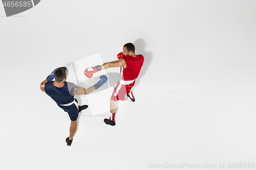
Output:
[[[133,88],[134,84],[135,84],[135,80],[131,84],[127,84],[127,85],[124,85],[118,82],[112,93],[111,99],[113,101],[119,101],[119,100],[124,101],[126,94],[130,93],[130,90]]]

